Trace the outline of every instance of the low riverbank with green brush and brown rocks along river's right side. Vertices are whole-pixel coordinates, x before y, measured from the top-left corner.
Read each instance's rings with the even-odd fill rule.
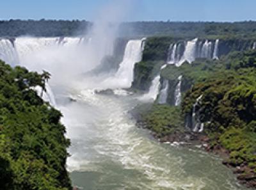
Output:
[[[234,162],[234,159],[231,159],[232,152],[225,148],[221,144],[221,141],[213,139],[211,134],[191,132],[185,129],[183,127],[182,117],[179,117],[178,114],[179,108],[159,104],[140,105],[132,111],[136,125],[140,128],[150,130],[152,137],[160,143],[170,144],[172,146],[200,148],[211,154],[216,154],[223,159],[222,163],[237,175],[239,184],[243,184],[246,187],[256,187],[255,171],[253,171],[250,164],[247,162]],[[166,125],[166,123],[168,124]],[[176,126],[177,123],[180,123],[179,127]]]

